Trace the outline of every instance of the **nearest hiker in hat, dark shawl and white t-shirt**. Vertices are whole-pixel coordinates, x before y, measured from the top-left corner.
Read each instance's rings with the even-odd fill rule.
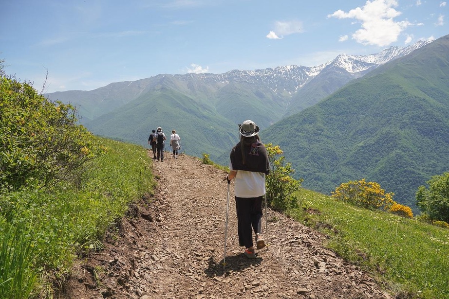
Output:
[[[229,175],[225,177],[228,182],[235,178],[239,245],[245,246],[243,253],[249,259],[256,258],[256,248],[265,247],[261,234],[262,198],[265,194],[265,175],[270,172],[270,163],[266,148],[259,138],[259,130],[256,123],[250,120],[239,124],[240,142],[231,150]]]

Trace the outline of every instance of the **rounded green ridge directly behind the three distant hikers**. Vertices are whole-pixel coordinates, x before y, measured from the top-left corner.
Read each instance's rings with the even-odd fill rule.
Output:
[[[153,127],[149,127],[148,123],[152,123]],[[134,143],[147,144],[147,147],[151,129],[162,126],[168,140],[171,130],[175,129],[181,136],[182,149],[199,153],[199,156],[202,153],[215,153],[217,144],[231,144],[237,139],[235,134],[232,136],[230,130],[226,129],[233,124],[213,108],[198,104],[185,94],[167,88],[147,92],[86,126],[88,129],[93,128],[97,135],[140,141]],[[166,144],[169,150],[169,143]]]

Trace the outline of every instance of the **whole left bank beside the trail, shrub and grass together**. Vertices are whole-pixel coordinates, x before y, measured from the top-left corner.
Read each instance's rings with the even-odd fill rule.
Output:
[[[75,112],[0,77],[0,298],[53,298],[154,187],[145,149],[94,137]]]

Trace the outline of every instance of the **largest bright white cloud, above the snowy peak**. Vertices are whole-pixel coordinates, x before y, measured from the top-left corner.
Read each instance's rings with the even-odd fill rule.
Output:
[[[413,25],[407,20],[393,20],[401,15],[394,9],[397,5],[396,0],[367,0],[362,8],[357,7],[348,13],[337,10],[327,17],[356,19],[357,23],[361,23],[361,28],[352,37],[364,45],[384,47],[397,41],[400,33]]]

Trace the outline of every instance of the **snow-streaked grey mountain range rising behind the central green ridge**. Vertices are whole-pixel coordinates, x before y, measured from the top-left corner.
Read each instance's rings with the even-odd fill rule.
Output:
[[[231,70],[222,74],[160,74],[137,81],[111,83],[91,91],[70,90],[48,94],[53,99],[80,106],[84,121],[151,92],[175,91],[199,105],[212,106],[222,116],[238,122],[242,111],[257,106],[261,127],[313,106],[351,80],[430,43],[390,47],[368,55],[338,55],[334,60],[314,66],[279,66],[264,70]],[[82,94],[82,96],[81,96]],[[242,104],[243,103],[243,104]],[[241,106],[239,111],[234,106]],[[260,114],[258,114],[260,113]]]

